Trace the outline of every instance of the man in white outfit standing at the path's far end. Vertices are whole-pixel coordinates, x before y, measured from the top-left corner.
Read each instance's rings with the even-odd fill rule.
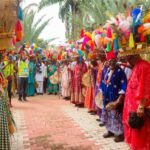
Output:
[[[38,84],[36,92],[38,95],[43,95],[43,82],[45,76],[45,66],[40,59],[36,63],[36,75],[35,80]]]

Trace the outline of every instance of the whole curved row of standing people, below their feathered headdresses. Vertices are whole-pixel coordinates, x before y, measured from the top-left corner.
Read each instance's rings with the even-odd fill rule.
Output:
[[[61,62],[8,53],[1,61],[10,107],[15,93],[20,102],[35,94],[59,94],[98,115],[99,126],[107,129],[104,138],[125,139],[133,150],[150,149],[149,67],[138,54],[117,59],[112,52],[90,61],[77,55]]]

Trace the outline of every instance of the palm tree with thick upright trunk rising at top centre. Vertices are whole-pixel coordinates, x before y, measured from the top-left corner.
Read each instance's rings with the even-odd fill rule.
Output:
[[[66,37],[68,39],[76,38],[76,24],[75,20],[79,17],[78,6],[85,0],[42,0],[40,2],[40,9],[43,7],[59,3],[59,17],[65,22],[66,25]],[[71,29],[71,30],[70,30]],[[70,32],[72,35],[70,35]]]

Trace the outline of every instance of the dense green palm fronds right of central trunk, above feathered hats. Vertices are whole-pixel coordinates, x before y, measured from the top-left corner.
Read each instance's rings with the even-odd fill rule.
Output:
[[[89,0],[79,6],[83,17],[83,25],[92,26],[93,23],[105,24],[110,16],[125,12],[126,8],[136,0]],[[90,9],[89,9],[90,6]]]

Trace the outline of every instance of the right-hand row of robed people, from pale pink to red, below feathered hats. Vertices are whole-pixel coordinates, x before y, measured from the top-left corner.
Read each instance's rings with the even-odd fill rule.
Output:
[[[65,63],[62,89],[70,94],[62,96],[70,96],[76,107],[97,114],[100,127],[107,129],[104,138],[125,140],[132,150],[149,150],[149,67],[139,54],[117,59],[113,52],[101,52],[92,61],[77,57],[73,65]]]

